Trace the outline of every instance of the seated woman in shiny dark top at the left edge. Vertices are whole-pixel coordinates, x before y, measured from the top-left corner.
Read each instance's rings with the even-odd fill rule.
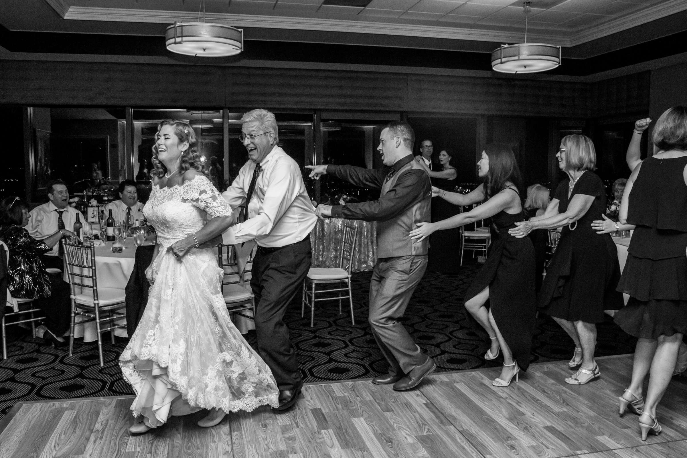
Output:
[[[41,254],[50,251],[63,237],[74,237],[60,229],[45,240],[36,240],[24,227],[29,223],[29,206],[19,197],[0,201],[0,239],[10,249],[8,289],[13,297],[34,299],[34,305],[45,314],[45,338],[52,343],[65,341],[61,336],[69,329],[71,301],[69,284],[58,273],[48,273]]]

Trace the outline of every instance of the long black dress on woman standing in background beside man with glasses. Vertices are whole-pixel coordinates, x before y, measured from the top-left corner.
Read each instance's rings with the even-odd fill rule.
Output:
[[[455,179],[432,179],[433,185],[441,190],[453,192]],[[460,206],[453,205],[440,197],[431,199],[431,220],[441,221],[460,213]],[[435,231],[429,236],[429,259],[427,271],[442,273],[460,272],[460,228]]]

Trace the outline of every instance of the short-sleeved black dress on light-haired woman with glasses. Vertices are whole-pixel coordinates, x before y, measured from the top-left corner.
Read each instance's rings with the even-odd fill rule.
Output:
[[[620,280],[618,249],[610,234],[599,235],[592,221],[601,219],[606,211],[606,192],[597,174],[587,170],[579,177],[570,197],[570,178],[561,181],[553,198],[559,200],[559,213],[575,194],[594,196],[592,206],[577,220],[563,227],[561,240],[546,269],[538,304],[552,317],[567,321],[601,323],[604,310],[620,310],[622,294],[616,291]]]

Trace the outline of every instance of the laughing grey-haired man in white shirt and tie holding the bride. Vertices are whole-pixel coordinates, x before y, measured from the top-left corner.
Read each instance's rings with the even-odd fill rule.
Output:
[[[251,274],[258,351],[279,386],[278,410],[286,410],[295,404],[303,380],[284,314],[308,274],[310,232],[317,217],[300,168],[277,146],[274,115],[253,110],[241,122],[240,139],[250,160],[222,195],[232,209],[238,211],[244,204],[245,209],[223,240],[258,244]]]

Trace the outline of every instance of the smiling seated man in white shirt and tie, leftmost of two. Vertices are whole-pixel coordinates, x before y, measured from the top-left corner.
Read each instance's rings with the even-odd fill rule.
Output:
[[[53,180],[45,187],[49,202],[38,205],[31,211],[29,224],[26,229],[29,235],[36,240],[43,240],[54,233],[60,231],[63,237],[73,236],[74,222],[76,215],[81,222],[85,221],[84,216],[74,207],[69,207],[69,190],[62,180]],[[41,260],[45,267],[63,268],[62,245],[55,244],[47,253],[41,255]]]

